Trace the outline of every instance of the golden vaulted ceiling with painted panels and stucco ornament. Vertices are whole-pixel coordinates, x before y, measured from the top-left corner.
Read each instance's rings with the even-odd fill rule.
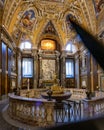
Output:
[[[63,47],[76,36],[67,15],[96,35],[93,0],[5,0],[3,24],[17,45],[30,40],[37,46],[41,39],[50,38]]]

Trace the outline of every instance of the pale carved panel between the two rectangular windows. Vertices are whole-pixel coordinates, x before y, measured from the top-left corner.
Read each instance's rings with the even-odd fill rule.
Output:
[[[42,79],[52,80],[55,74],[55,60],[43,59],[42,60]]]

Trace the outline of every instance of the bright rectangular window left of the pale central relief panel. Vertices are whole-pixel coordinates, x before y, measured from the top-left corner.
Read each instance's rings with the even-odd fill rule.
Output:
[[[23,58],[22,76],[33,77],[33,59],[32,58]]]

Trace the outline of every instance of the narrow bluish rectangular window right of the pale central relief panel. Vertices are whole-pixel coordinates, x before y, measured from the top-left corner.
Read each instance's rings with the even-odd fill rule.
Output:
[[[66,59],[66,78],[74,77],[74,60]]]

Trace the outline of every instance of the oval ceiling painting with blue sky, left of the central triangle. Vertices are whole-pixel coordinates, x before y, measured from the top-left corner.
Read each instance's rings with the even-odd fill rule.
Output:
[[[28,10],[22,16],[21,25],[24,28],[27,28],[27,29],[31,30],[33,28],[33,25],[34,25],[35,21],[36,21],[36,18],[35,18],[34,11],[33,10]]]

